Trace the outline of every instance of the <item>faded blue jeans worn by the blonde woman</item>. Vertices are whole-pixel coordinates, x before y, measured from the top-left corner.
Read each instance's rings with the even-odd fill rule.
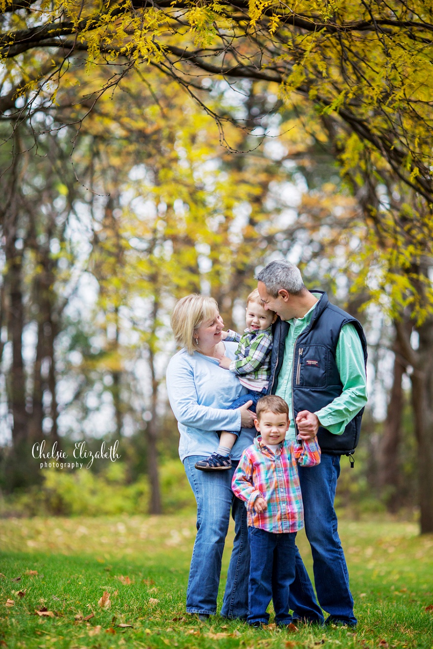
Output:
[[[216,613],[221,557],[231,509],[235,536],[221,615],[246,619],[250,561],[247,509],[231,488],[238,463],[234,462],[229,471],[197,471],[194,464],[201,459],[203,456],[184,459],[186,476],[197,501],[197,536],[186,591],[186,610],[188,613]]]

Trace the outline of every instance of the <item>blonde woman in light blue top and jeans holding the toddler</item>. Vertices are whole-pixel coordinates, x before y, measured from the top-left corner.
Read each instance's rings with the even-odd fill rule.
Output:
[[[248,615],[249,546],[246,509],[234,497],[232,475],[241,452],[253,443],[251,401],[237,410],[230,404],[246,388],[219,367],[219,359],[234,359],[237,343],[223,342],[223,319],[214,299],[188,295],[177,302],[171,318],[175,340],[182,346],[167,367],[167,390],[180,432],[179,455],[197,501],[197,537],[193,548],[186,610],[205,619],[216,613],[221,557],[229,528],[230,508],[235,537],[221,615]],[[229,471],[197,471],[194,465],[218,447],[217,430],[243,430],[232,449]]]

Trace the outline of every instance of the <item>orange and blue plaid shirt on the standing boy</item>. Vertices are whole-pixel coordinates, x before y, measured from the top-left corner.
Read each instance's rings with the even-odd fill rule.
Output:
[[[248,525],[266,532],[298,532],[304,526],[304,509],[297,465],[314,467],[320,462],[320,447],[315,441],[284,441],[275,455],[256,437],[245,448],[234,472],[232,489],[245,500]],[[254,501],[266,500],[267,509],[258,513]]]

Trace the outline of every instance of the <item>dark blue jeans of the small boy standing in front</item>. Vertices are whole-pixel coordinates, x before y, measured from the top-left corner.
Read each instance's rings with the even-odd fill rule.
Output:
[[[274,534],[248,528],[251,564],[249,574],[248,622],[269,622],[266,609],[273,601],[276,624],[291,622],[289,614],[290,584],[295,579],[296,533]]]

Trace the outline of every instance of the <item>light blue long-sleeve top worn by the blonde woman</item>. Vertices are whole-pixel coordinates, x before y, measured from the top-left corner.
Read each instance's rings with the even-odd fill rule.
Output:
[[[225,341],[225,355],[234,360],[238,343]],[[241,430],[239,410],[227,410],[232,402],[247,392],[239,378],[219,367],[216,358],[181,349],[167,367],[167,392],[171,410],[177,419],[182,461],[192,455],[208,457],[219,445],[217,430]],[[253,443],[255,428],[242,428],[232,448],[238,461]]]

